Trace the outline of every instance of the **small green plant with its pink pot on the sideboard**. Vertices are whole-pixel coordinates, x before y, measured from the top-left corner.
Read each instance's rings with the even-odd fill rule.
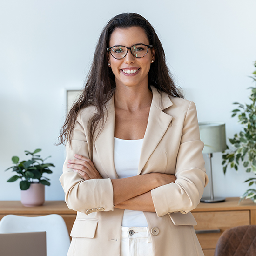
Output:
[[[54,167],[54,164],[44,162],[50,156],[41,159],[40,155],[35,155],[40,151],[40,148],[35,149],[33,153],[25,150],[25,154],[31,156],[31,159],[27,161],[20,161],[18,156],[13,156],[12,161],[14,165],[6,169],[6,171],[12,169],[13,172],[17,173],[7,182],[15,182],[21,179],[21,203],[24,206],[42,205],[45,200],[45,185],[50,185],[49,179],[43,177],[43,174],[52,173],[49,167]]]

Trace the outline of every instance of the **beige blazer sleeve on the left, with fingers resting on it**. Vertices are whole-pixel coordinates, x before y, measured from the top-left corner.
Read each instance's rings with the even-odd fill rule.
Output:
[[[65,192],[65,201],[68,208],[89,214],[88,209],[99,211],[113,211],[113,186],[109,178],[84,180],[80,174],[67,168],[67,161],[75,159],[74,154],[89,158],[88,143],[79,115],[74,126],[72,143],[67,143],[66,160],[63,165],[63,174],[60,177]]]

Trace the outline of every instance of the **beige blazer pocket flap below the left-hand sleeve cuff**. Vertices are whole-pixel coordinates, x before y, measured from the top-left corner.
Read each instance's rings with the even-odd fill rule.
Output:
[[[94,238],[98,220],[79,220],[74,221],[70,236],[82,238]]]

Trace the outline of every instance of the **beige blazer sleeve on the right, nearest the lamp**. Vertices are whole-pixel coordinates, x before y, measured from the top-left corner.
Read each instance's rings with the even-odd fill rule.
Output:
[[[208,183],[205,173],[195,103],[190,102],[184,118],[181,143],[178,150],[175,183],[151,190],[158,217],[168,213],[183,214],[196,208]]]

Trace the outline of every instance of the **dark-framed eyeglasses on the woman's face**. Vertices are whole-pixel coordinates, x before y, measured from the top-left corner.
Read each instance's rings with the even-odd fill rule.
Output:
[[[120,60],[123,59],[128,53],[128,49],[131,51],[133,56],[136,58],[143,58],[147,55],[148,49],[152,48],[153,45],[146,44],[135,44],[132,47],[126,47],[123,45],[115,45],[107,48],[107,51],[113,56],[113,58]]]

